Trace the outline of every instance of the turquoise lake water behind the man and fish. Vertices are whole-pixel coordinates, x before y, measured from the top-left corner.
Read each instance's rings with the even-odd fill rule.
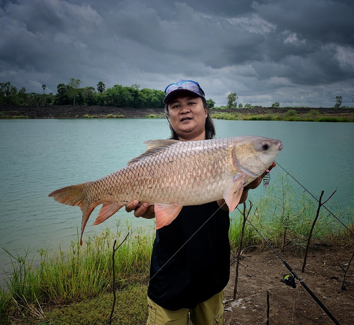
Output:
[[[259,135],[280,139],[284,149],[276,161],[317,197],[335,188],[331,201],[353,206],[354,124],[215,120],[218,137]],[[165,139],[165,119],[0,120],[0,247],[15,256],[24,249],[62,249],[76,238],[81,225],[79,207],[59,204],[48,194],[55,189],[108,175],[145,150],[143,141]],[[281,168],[271,172],[271,180]],[[262,194],[260,186],[255,192]],[[303,191],[298,188],[298,191]],[[85,235],[115,228],[117,220],[153,226],[123,209]],[[123,221],[124,223],[125,221]],[[10,258],[0,249],[0,268],[11,270]],[[0,271],[0,283],[3,274]]]

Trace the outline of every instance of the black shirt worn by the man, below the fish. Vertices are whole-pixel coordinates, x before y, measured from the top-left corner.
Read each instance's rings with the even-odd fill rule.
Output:
[[[227,285],[230,219],[218,208],[216,202],[184,206],[171,224],[156,230],[148,296],[159,306],[194,309]]]

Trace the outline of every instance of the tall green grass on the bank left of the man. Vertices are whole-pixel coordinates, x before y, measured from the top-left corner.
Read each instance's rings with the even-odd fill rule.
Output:
[[[19,314],[24,306],[51,302],[69,304],[86,298],[97,297],[102,292],[112,291],[112,253],[114,238],[128,239],[115,253],[116,288],[146,284],[152,253],[153,232],[126,225],[124,230],[117,226],[115,234],[106,230],[98,236],[88,237],[80,246],[79,234],[70,243],[68,251],[59,248],[54,255],[39,249],[40,265],[33,266],[28,258],[11,257],[12,272],[6,281],[7,290],[0,291],[0,324],[8,320],[10,314]]]

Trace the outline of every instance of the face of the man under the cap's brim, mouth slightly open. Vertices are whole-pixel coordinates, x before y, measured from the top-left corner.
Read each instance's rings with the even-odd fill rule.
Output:
[[[179,140],[204,140],[205,119],[208,109],[204,108],[199,96],[190,93],[180,94],[172,98],[168,104],[169,119]]]

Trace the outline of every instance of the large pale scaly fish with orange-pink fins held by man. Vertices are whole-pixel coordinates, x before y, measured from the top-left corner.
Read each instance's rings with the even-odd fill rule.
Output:
[[[81,238],[93,209],[103,203],[95,224],[132,200],[155,205],[156,229],[170,224],[184,205],[225,199],[230,211],[243,187],[272,164],[279,140],[240,136],[204,141],[149,140],[146,152],[97,181],[50,193],[56,201],[82,210]]]

